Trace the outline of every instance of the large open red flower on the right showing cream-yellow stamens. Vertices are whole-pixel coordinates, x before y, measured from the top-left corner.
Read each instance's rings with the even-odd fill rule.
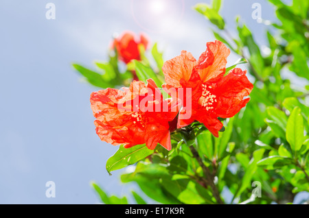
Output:
[[[216,40],[207,43],[207,50],[196,61],[190,52],[182,51],[181,56],[165,62],[165,89],[192,88],[192,95],[183,98],[183,108],[179,114],[178,128],[199,121],[214,136],[222,129],[218,117],[228,118],[237,114],[246,106],[248,96],[253,89],[246,73],[241,69],[233,69],[225,75],[225,65],[229,56],[229,49]],[[176,97],[175,92],[169,91]],[[190,99],[187,102],[186,99]],[[191,103],[192,105],[190,106]],[[191,114],[189,119],[183,119],[184,114]]]

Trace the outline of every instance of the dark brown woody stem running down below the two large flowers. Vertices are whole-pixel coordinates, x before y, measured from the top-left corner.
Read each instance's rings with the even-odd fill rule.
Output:
[[[203,173],[206,175],[205,182],[207,182],[207,185],[209,185],[211,190],[213,191],[213,195],[216,198],[217,203],[218,204],[224,204],[224,202],[222,201],[222,199],[220,197],[220,193],[218,191],[218,188],[217,188],[216,184],[214,184],[214,176],[211,175],[211,172],[208,169],[208,167],[206,167],[204,165],[203,160],[198,155],[198,152],[196,151],[196,149],[193,146],[190,146],[190,149],[191,149],[191,152],[193,154],[193,157],[196,158],[196,160],[198,161],[198,164],[202,167]]]

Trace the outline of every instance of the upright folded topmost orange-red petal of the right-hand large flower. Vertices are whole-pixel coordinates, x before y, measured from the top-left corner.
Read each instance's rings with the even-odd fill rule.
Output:
[[[229,49],[218,40],[207,43],[207,49],[198,59],[196,66],[203,82],[224,75],[229,53]]]

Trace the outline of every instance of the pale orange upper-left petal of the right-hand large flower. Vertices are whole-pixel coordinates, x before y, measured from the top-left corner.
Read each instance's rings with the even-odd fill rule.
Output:
[[[181,79],[189,81],[195,65],[196,59],[192,56],[192,53],[181,51],[180,56],[163,64],[162,71],[165,76],[165,82],[175,88],[181,87]]]

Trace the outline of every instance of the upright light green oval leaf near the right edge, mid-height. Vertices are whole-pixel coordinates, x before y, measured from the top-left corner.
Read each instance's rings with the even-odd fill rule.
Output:
[[[301,117],[301,110],[299,107],[294,108],[290,117],[288,117],[286,141],[290,144],[291,149],[295,151],[295,155],[304,143],[304,120],[303,117]]]

